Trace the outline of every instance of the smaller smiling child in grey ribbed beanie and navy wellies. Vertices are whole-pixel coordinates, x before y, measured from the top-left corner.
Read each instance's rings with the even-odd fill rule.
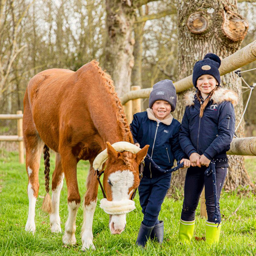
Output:
[[[184,162],[184,167],[190,166],[179,144],[180,123],[170,114],[175,110],[176,99],[172,81],[159,81],[149,95],[147,112],[135,114],[131,124],[135,145],[142,148],[149,144],[148,154],[164,170],[173,166],[174,158]],[[171,173],[160,172],[145,159],[143,178],[138,188],[144,218],[136,240],[136,244],[142,247],[149,238],[156,238],[159,243],[163,241],[164,222],[158,220],[158,215],[170,181]]]

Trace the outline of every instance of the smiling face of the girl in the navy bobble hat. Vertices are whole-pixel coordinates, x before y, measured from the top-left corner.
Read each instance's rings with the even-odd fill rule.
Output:
[[[218,85],[217,80],[212,75],[202,75],[196,81],[196,87],[201,92],[203,99]]]

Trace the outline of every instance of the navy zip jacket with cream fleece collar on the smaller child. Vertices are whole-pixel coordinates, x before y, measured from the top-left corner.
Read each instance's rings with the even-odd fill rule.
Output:
[[[134,143],[139,143],[140,148],[149,145],[148,155],[162,169],[171,169],[174,158],[177,161],[188,158],[180,148],[180,123],[171,114],[157,122],[153,110],[148,108],[145,112],[133,115],[130,127]],[[163,172],[154,169],[145,158],[144,176],[157,177],[162,174]]]

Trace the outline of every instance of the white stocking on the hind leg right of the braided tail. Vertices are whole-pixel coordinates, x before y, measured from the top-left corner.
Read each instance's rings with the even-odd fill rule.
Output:
[[[60,191],[63,186],[64,173],[60,176],[60,183],[55,190],[52,191],[52,213],[50,214],[51,231],[58,233],[61,232],[60,227]]]

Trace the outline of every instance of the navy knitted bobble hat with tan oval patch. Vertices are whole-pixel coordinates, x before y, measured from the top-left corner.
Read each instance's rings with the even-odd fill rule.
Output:
[[[194,86],[196,87],[196,81],[202,75],[212,75],[218,81],[218,85],[220,85],[220,63],[220,57],[213,53],[207,53],[203,60],[197,61],[193,69],[192,80]]]

